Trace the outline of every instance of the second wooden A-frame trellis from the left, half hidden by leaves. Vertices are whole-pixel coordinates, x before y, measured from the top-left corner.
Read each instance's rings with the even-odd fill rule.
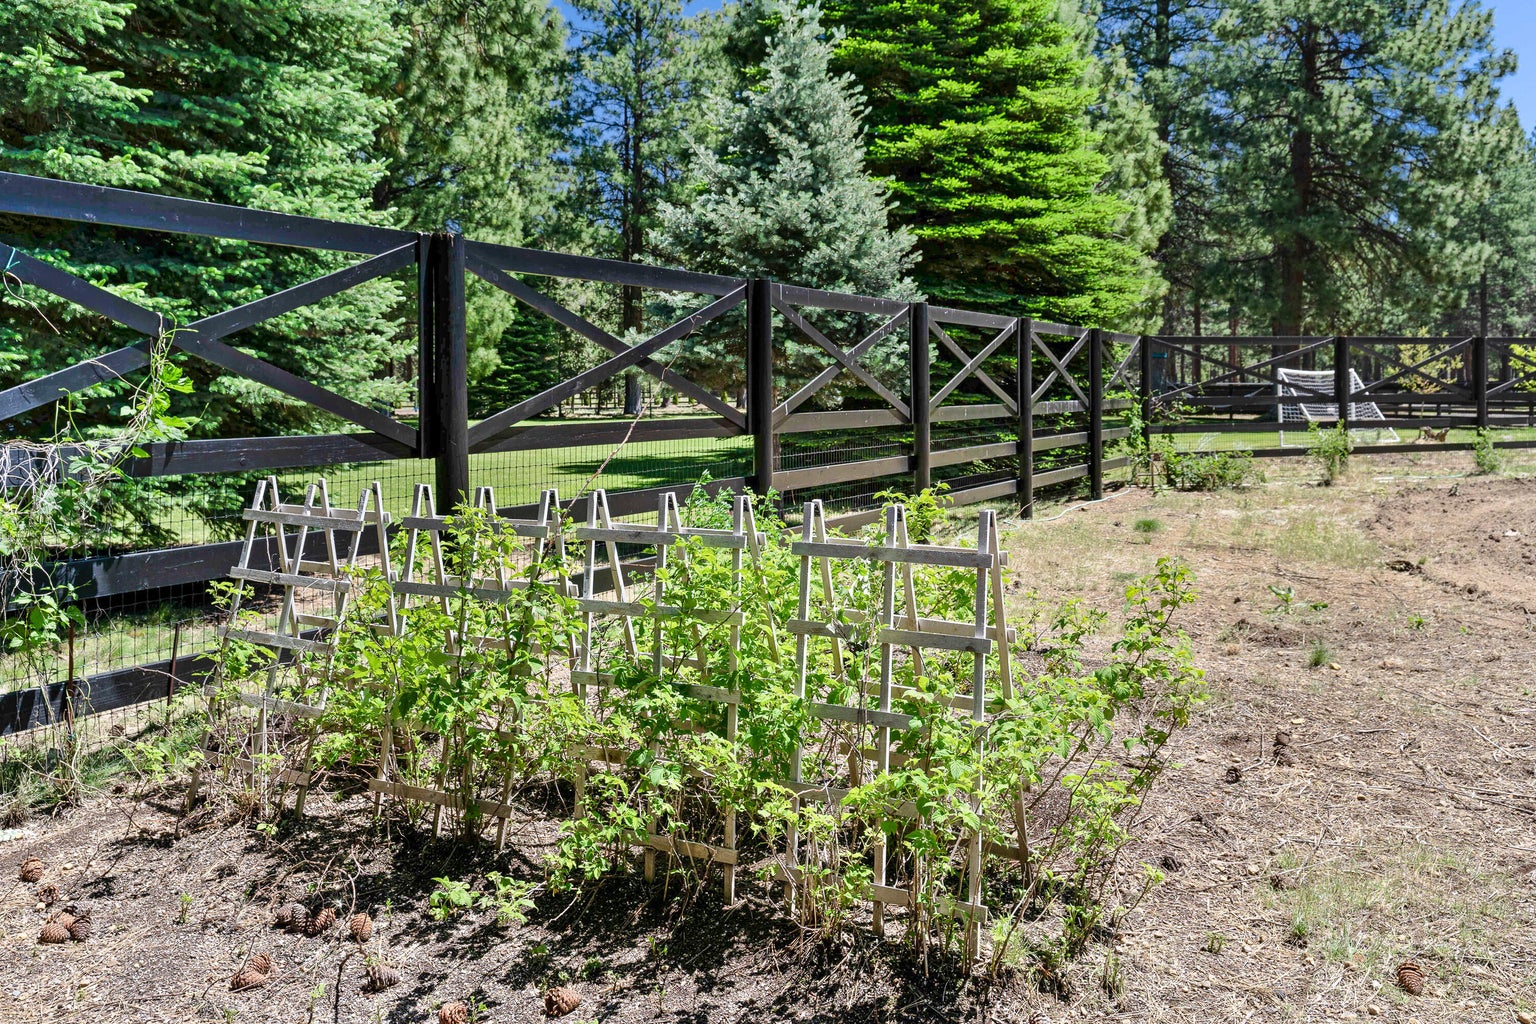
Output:
[[[574,594],[574,586],[565,577],[562,568],[562,553],[565,547],[564,534],[564,516],[561,513],[559,494],[554,490],[545,490],[539,497],[538,514],[535,519],[515,519],[510,516],[501,516],[496,505],[496,493],[490,487],[481,487],[475,491],[473,507],[479,511],[488,513],[492,516],[492,528],[496,531],[510,531],[518,537],[530,540],[525,554],[530,559],[531,567],[553,565],[556,576],[556,585],[565,593],[565,596]],[[492,573],[488,576],[472,576],[464,573],[450,573],[449,563],[444,560],[444,533],[452,530],[452,516],[439,516],[433,502],[432,487],[427,484],[416,485],[415,496],[412,497],[410,516],[401,520],[401,528],[406,530],[406,550],[402,556],[402,563],[399,570],[399,579],[392,580],[393,596],[399,599],[398,611],[392,609],[390,622],[387,629],[393,636],[404,636],[410,623],[410,613],[413,606],[419,606],[419,600],[429,600],[436,603],[444,614],[452,614],[455,600],[465,602],[484,602],[490,606],[499,609],[502,622],[510,628],[510,611],[508,603],[511,599],[525,591],[531,579],[528,576],[515,571],[505,559],[496,557]],[[425,553],[422,553],[422,543],[425,542]],[[427,579],[421,579],[419,570],[421,556],[427,556],[425,573]],[[553,556],[553,557],[551,557]],[[473,570],[473,567],[472,567]],[[461,633],[458,629],[449,629],[445,640],[445,652],[450,656],[459,656],[468,649],[487,649],[501,648],[510,651],[510,640],[502,636],[482,636]],[[551,654],[548,651],[533,649],[531,654]],[[565,652],[567,656],[570,652]],[[496,847],[505,843],[507,838],[507,818],[511,815],[511,806],[508,803],[511,797],[511,788],[516,783],[513,777],[513,766],[505,765],[501,775],[501,788],[496,800],[484,800],[478,797],[465,797],[464,792],[452,792],[447,788],[447,749],[449,737],[441,737],[441,768],[436,780],[432,786],[415,786],[399,781],[399,763],[395,751],[395,731],[401,725],[393,715],[386,715],[379,761],[375,772],[375,778],[369,783],[369,789],[375,794],[375,808],[379,806],[382,797],[395,797],[401,800],[412,800],[418,803],[432,804],[432,832],[438,835],[442,829],[442,811],[465,811],[467,800],[473,800],[475,809],[487,818],[496,820]],[[516,722],[498,720],[479,723],[475,728],[485,728],[495,731],[501,738],[510,735],[510,729],[516,726]],[[464,772],[470,771],[468,765],[462,766]]]

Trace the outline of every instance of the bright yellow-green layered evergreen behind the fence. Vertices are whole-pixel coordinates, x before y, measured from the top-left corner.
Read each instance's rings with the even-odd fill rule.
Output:
[[[1144,253],[1087,109],[1087,58],[1058,0],[833,0],[836,68],[869,100],[869,167],[919,238],[935,301],[1112,324],[1146,296]]]

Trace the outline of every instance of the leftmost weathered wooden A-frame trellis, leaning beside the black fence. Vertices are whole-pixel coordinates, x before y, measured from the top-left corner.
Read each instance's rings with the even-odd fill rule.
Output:
[[[330,488],[324,477],[309,485],[303,502],[293,504],[281,499],[276,477],[269,476],[257,484],[255,497],[241,517],[246,520],[246,537],[240,548],[240,560],[229,570],[229,577],[235,580],[229,625],[220,629],[217,668],[203,688],[209,700],[210,729],[218,722],[218,702],[230,642],[266,648],[270,652],[270,662],[263,674],[264,685],[260,692],[237,691],[233,694],[240,706],[255,709],[255,722],[249,737],[250,749],[238,752],[221,749],[212,757],[221,766],[244,772],[253,780],[273,774],[281,786],[292,785],[296,791],[293,809],[296,814],[303,814],[304,795],[313,780],[310,755],[315,745],[316,718],[326,708],[327,674],[336,651],[336,629],[347,614],[353,586],[352,573],[362,554],[362,536],[370,528],[373,530],[382,570],[389,576],[390,514],[384,508],[382,490],[376,481],[362,490],[356,508],[338,508],[330,504]],[[338,534],[344,534],[346,539],[338,542]],[[321,557],[310,557],[310,548],[316,537],[323,548]],[[267,563],[275,562],[275,570],[252,565],[252,557],[258,553],[258,540],[263,539],[267,542]],[[270,629],[247,628],[240,623],[247,585],[281,590],[276,623]],[[310,602],[306,600],[310,596],[321,599],[329,596],[330,608],[327,611],[310,608]],[[393,602],[390,616],[393,617]],[[289,695],[280,695],[280,680],[287,668],[293,671],[300,686]],[[304,697],[316,680],[318,692],[315,697],[295,699]],[[269,757],[269,715],[272,714],[290,715],[304,722],[303,755],[296,768],[283,766],[269,772],[264,763]],[[194,774],[187,794],[189,804],[197,797],[198,783],[200,777]]]

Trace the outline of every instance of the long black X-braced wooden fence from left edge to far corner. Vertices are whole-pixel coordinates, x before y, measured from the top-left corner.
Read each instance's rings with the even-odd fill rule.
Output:
[[[654,485],[614,488],[604,476],[614,450],[717,441],[750,444],[750,456],[722,448],[714,465],[723,471],[710,487],[773,490],[786,508],[802,496],[825,494],[857,513],[871,505],[877,490],[915,491],[943,482],[957,502],[1012,499],[1029,516],[1038,488],[1086,481],[1094,497],[1103,494],[1106,473],[1123,464],[1112,457],[1111,445],[1127,436],[1124,427],[1106,425],[1106,415],[1127,408],[1126,399],[1138,387],[1146,393],[1138,379],[1146,362],[1138,359],[1144,348],[1138,338],[997,313],[12,173],[0,173],[0,215],[361,256],[266,298],[170,324],[146,306],[0,241],[8,286],[32,286],[134,335],[121,347],[84,353],[74,365],[0,390],[0,424],[12,421],[14,427],[25,413],[71,393],[129,378],[147,364],[151,345],[166,338],[217,372],[323,410],[341,427],[321,434],[147,445],[143,457],[124,465],[137,479],[244,479],[257,471],[292,477],[362,465],[369,476],[395,474],[401,484],[433,479],[442,504],[444,496],[464,497],[479,484],[510,479],[505,459],[524,457],[519,479],[528,487],[507,502],[516,505],[547,484],[548,456],[556,453],[581,470],[578,476],[590,467],[588,479],[608,484],[613,510],[627,514],[654,508],[659,490],[691,484],[697,465],[679,462],[674,476],[665,467],[654,473]],[[418,342],[415,410],[364,405],[339,393],[344,388],[323,387],[227,341],[389,275],[409,282],[412,296],[406,316],[415,318],[409,327]],[[648,338],[621,338],[594,322],[602,318],[562,298],[614,286],[644,289],[665,299],[656,309],[677,312]],[[548,318],[598,356],[558,384],[472,422],[472,287],[510,295],[522,310]],[[12,302],[6,315],[12,324],[25,322],[29,307]],[[679,342],[702,336],[714,338],[719,355],[713,364],[700,364],[699,353],[682,359]],[[548,416],[562,402],[630,373],[651,378],[687,415],[644,410],[637,418],[611,421]],[[703,378],[708,382],[700,382]],[[1121,398],[1106,398],[1114,395]],[[17,430],[11,436],[18,436]],[[625,482],[633,484],[633,477]],[[574,499],[573,513],[584,514],[582,496],[567,496]],[[238,517],[238,508],[223,514]],[[98,613],[106,636],[124,608],[143,613],[170,593],[192,594],[195,605],[206,583],[235,562],[237,547],[233,540],[189,540],[66,557],[43,576],[74,586],[75,597]],[[0,734],[167,699],[206,669],[207,633],[198,633],[198,622],[206,625],[206,613],[140,623],[134,634],[140,642],[127,652],[120,631],[114,642],[103,642],[111,656],[89,654],[89,637],[83,637],[80,657],[72,645],[52,679],[0,682],[0,689],[9,688],[0,694]]]

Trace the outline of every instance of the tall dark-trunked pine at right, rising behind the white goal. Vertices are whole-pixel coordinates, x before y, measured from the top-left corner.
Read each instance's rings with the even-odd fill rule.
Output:
[[[1201,74],[1218,269],[1249,321],[1373,332],[1455,281],[1511,69],[1475,0],[1229,0]]]

